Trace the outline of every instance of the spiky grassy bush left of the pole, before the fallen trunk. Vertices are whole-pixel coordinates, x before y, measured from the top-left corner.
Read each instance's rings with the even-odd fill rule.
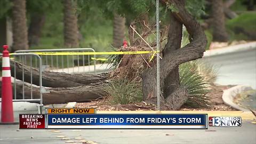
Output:
[[[141,84],[128,78],[119,78],[109,83],[106,92],[110,95],[111,103],[127,104],[143,100]]]

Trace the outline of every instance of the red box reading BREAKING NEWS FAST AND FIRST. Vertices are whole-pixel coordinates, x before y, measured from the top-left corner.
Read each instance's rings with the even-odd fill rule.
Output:
[[[20,129],[44,129],[45,117],[42,114],[20,114]]]

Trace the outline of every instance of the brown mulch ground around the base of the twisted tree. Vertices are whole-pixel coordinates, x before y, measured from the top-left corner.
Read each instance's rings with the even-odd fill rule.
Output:
[[[190,108],[186,105],[182,106],[180,110],[235,110],[230,106],[226,105],[222,100],[223,90],[230,88],[231,86],[215,86],[213,91],[210,93],[211,106],[209,108]],[[156,104],[139,102],[131,103],[127,105],[111,105],[110,98],[104,98],[101,100],[94,100],[91,102],[77,103],[76,108],[96,108],[96,110],[125,110],[125,111],[136,111],[136,110],[155,110]]]

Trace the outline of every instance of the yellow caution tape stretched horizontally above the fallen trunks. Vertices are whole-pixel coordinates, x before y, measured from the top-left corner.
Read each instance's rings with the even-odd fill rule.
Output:
[[[32,52],[38,55],[110,55],[110,54],[147,54],[153,51],[134,52]]]

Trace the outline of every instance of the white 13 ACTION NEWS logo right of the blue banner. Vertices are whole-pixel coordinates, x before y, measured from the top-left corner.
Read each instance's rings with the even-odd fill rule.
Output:
[[[209,117],[209,126],[241,126],[242,118],[239,116],[232,117]]]

